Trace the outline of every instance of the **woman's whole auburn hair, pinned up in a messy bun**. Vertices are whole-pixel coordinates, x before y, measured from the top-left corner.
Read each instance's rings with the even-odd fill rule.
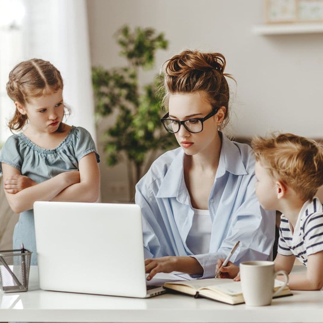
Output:
[[[167,60],[164,77],[163,107],[168,109],[169,95],[201,91],[213,109],[226,108],[221,129],[229,122],[229,86],[224,74],[225,58],[219,53],[201,53],[197,50],[184,50]]]

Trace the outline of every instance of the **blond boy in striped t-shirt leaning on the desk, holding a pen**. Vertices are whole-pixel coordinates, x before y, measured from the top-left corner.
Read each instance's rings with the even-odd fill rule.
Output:
[[[255,137],[251,145],[256,159],[257,198],[264,209],[282,213],[275,270],[289,274],[297,257],[307,272],[290,275],[289,287],[321,289],[323,208],[314,195],[323,185],[323,146],[289,133]],[[217,268],[222,262],[218,260]],[[233,278],[239,269],[229,262],[222,272],[221,277]],[[240,280],[239,275],[234,280]]]

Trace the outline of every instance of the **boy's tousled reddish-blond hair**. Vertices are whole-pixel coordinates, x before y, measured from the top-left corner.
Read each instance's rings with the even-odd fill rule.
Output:
[[[323,185],[323,146],[291,133],[254,137],[256,161],[272,177],[290,186],[303,200],[311,200]]]

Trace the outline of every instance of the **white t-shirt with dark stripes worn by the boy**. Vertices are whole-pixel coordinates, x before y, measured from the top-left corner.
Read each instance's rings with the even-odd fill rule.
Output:
[[[292,234],[287,218],[282,214],[279,227],[278,253],[295,255],[307,265],[307,257],[323,250],[323,207],[317,197],[304,203]]]

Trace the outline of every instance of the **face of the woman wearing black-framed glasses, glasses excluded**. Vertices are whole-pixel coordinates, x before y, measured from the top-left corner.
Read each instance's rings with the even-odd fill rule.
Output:
[[[181,125],[180,130],[175,133],[177,142],[187,155],[208,149],[218,136],[218,126],[224,118],[224,107],[211,118],[203,122],[203,130],[199,133],[192,133]],[[169,118],[174,120],[187,120],[192,118],[204,118],[212,112],[212,106],[207,102],[201,92],[175,93],[169,97]]]

